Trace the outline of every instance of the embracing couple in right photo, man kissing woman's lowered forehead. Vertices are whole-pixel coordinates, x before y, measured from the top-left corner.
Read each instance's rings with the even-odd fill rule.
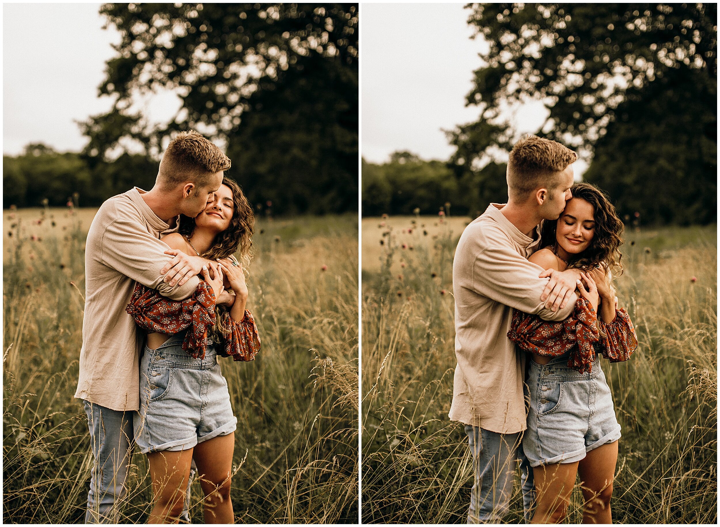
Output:
[[[600,355],[637,338],[612,273],[623,224],[575,152],[528,136],[508,160],[508,203],[465,228],[453,264],[457,366],[450,418],[473,456],[468,523],[501,521],[516,463],[525,520],[559,523],[580,474],[583,523],[611,523],[621,436]]]

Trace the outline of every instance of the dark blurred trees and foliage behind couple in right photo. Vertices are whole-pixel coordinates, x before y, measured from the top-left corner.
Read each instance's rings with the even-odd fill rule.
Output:
[[[521,137],[508,107],[540,101],[549,114],[537,134],[588,158],[585,181],[621,217],[716,222],[716,4],[467,7],[490,45],[466,101],[480,118],[448,132],[456,153],[444,163],[410,153],[363,163],[363,215],[445,202],[477,215],[505,202],[503,153]]]

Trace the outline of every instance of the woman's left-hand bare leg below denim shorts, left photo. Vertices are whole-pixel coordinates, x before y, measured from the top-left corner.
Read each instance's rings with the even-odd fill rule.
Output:
[[[148,523],[178,523],[190,474],[192,449],[148,454],[153,479],[153,510]]]

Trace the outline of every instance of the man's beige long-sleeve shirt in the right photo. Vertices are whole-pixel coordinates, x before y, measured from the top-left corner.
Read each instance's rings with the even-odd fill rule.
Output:
[[[455,368],[451,420],[498,433],[526,429],[525,352],[507,336],[513,308],[544,320],[564,320],[540,301],[547,278],[528,261],[540,242],[521,233],[492,203],[460,236],[453,261]]]

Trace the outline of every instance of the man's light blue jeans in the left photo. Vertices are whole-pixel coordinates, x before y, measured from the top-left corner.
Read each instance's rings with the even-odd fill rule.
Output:
[[[121,523],[118,505],[125,496],[127,467],[132,454],[132,415],[84,401],[94,459],[85,523]],[[190,521],[192,462],[181,518]]]

